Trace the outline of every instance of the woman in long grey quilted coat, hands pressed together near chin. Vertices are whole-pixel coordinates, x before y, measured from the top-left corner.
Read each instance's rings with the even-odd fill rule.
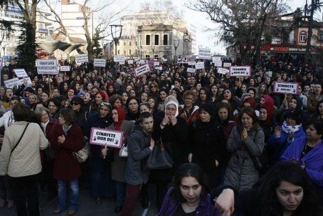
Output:
[[[264,134],[258,124],[258,117],[251,107],[244,107],[227,142],[227,149],[233,154],[224,184],[233,185],[238,191],[250,189],[258,180],[258,170],[252,157],[260,156],[263,147]]]

